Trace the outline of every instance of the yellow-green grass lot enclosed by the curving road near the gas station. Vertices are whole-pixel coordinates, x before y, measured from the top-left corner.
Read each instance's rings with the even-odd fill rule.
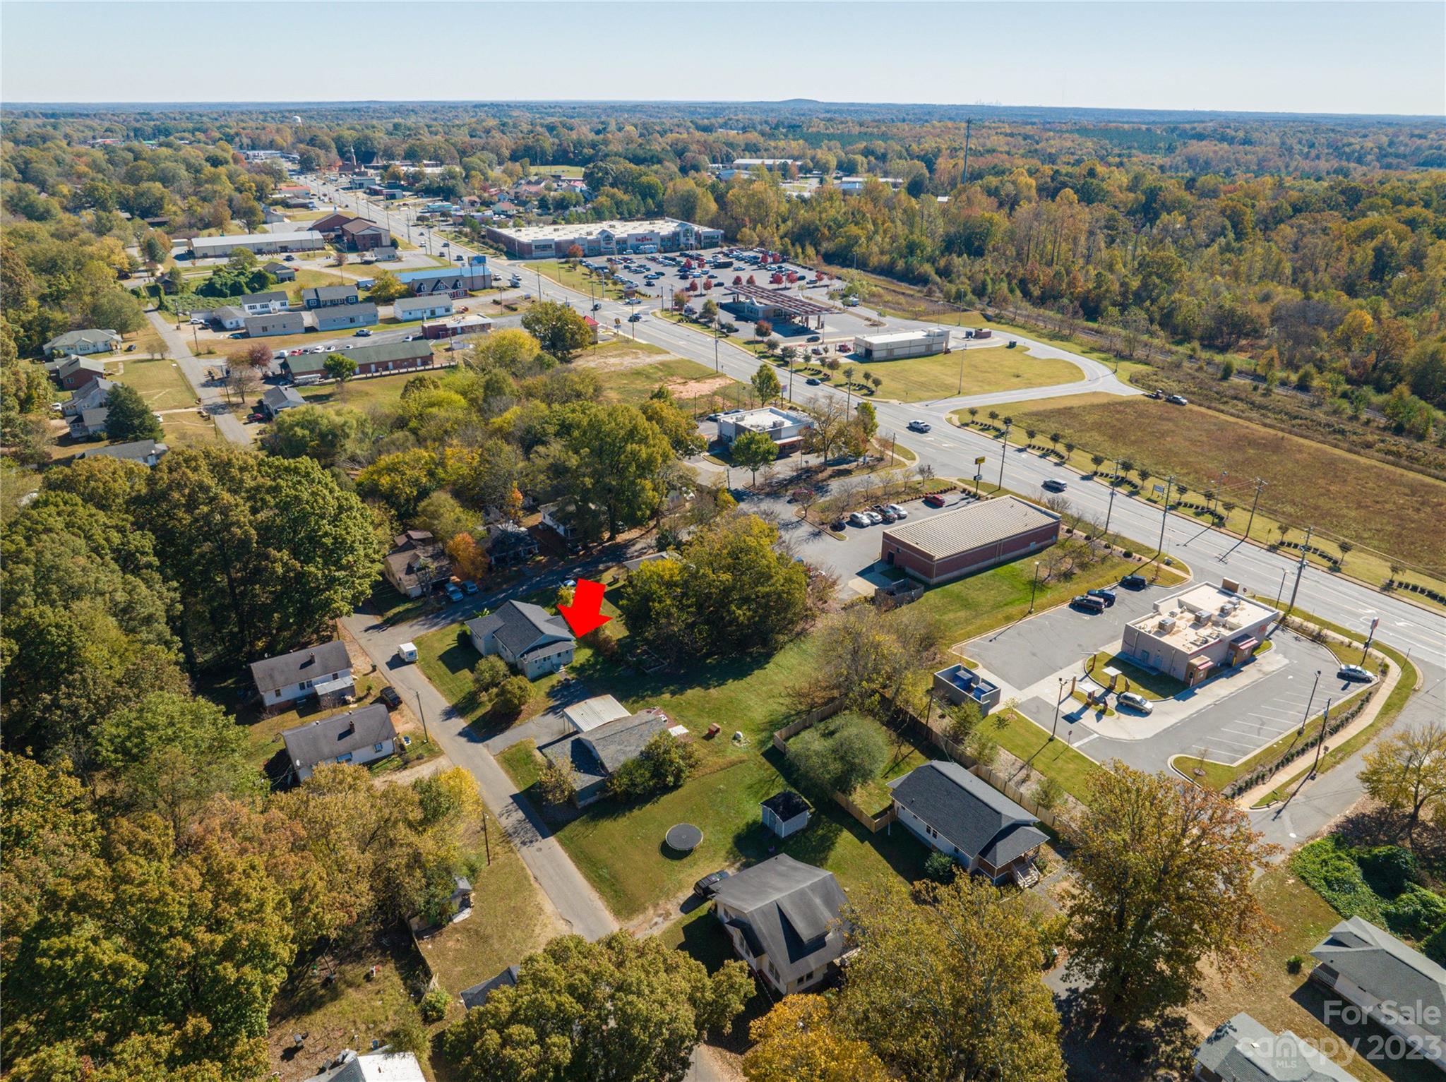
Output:
[[[1084,378],[1079,365],[1053,357],[1030,357],[1024,350],[989,347],[956,350],[936,357],[911,357],[902,361],[849,361],[856,376],[879,376],[884,383],[875,397],[899,402],[947,399],[954,394],[988,394],[1019,387],[1051,387]],[[960,367],[962,376],[960,380]],[[842,386],[842,374],[836,377]],[[962,384],[962,387],[960,387]]]

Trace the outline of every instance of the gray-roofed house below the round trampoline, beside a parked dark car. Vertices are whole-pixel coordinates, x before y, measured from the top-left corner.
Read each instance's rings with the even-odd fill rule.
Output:
[[[713,900],[740,914],[729,923],[753,953],[768,955],[784,982],[843,953],[847,899],[831,871],[778,855],[723,880]]]

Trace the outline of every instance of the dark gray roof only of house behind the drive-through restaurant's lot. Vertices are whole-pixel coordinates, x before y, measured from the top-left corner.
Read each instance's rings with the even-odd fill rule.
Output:
[[[1032,815],[957,763],[934,761],[889,782],[894,799],[940,836],[1002,868],[1045,841]]]

